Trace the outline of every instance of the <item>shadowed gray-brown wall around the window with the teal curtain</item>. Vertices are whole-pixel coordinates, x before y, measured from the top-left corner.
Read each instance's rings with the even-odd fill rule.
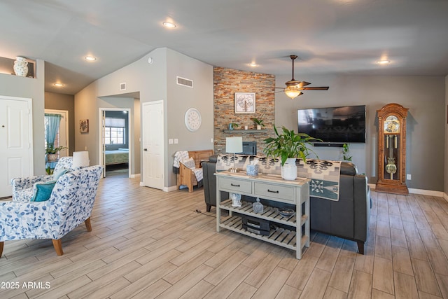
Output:
[[[69,111],[69,155],[73,155],[73,151],[75,151],[75,97],[45,92],[45,109]]]

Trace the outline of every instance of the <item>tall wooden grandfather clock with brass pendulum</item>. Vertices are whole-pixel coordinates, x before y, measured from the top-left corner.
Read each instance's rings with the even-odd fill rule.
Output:
[[[407,195],[406,116],[407,108],[387,104],[378,113],[378,192]]]

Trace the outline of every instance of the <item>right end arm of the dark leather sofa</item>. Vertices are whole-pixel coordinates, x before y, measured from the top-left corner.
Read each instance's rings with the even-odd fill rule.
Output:
[[[370,189],[367,186],[367,176],[353,176],[353,197],[354,237],[366,241],[370,221]]]

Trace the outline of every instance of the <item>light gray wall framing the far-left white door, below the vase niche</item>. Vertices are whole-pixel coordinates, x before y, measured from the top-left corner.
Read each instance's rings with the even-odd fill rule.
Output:
[[[32,99],[34,174],[45,174],[44,79],[45,62],[36,60],[35,78],[0,74],[0,95]]]

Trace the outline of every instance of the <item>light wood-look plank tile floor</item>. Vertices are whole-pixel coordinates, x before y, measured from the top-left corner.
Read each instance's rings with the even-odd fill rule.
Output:
[[[66,235],[64,256],[50,240],[5,242],[0,298],[448,298],[448,202],[372,200],[364,256],[355,242],[313,232],[296,260],[217,233],[202,189],[164,193],[112,176],[100,183],[92,232]]]

